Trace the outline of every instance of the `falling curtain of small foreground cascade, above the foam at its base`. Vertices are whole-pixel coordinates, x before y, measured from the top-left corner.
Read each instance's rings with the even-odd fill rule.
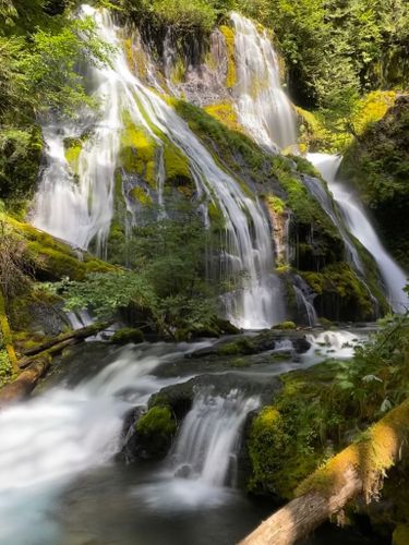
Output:
[[[240,432],[257,398],[238,390],[227,397],[201,392],[185,416],[170,455],[176,476],[212,486],[234,485]]]

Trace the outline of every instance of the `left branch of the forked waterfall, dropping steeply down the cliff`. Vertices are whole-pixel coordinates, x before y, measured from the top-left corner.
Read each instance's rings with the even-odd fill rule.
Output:
[[[92,10],[83,7],[82,14],[89,13]],[[43,128],[47,166],[32,222],[85,250],[95,239],[97,254],[104,256],[113,214],[115,169],[122,125],[120,89],[108,65],[89,65],[85,77],[96,89],[94,97],[99,105],[92,134],[79,144],[81,152],[74,175],[65,157],[64,140],[81,135],[84,125],[80,121],[75,126],[70,120],[53,119]]]

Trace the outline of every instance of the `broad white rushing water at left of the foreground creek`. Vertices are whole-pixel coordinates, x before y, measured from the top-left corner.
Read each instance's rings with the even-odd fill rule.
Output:
[[[2,410],[0,543],[59,543],[47,514],[53,499],[83,471],[109,462],[119,449],[127,410],[180,382],[154,377],[155,367],[205,346],[123,349],[113,363],[75,388],[55,388]]]

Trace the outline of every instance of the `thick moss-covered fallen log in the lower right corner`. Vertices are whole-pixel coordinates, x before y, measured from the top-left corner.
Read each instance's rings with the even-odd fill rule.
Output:
[[[240,545],[291,545],[346,504],[363,495],[376,500],[386,471],[401,458],[409,439],[409,400],[389,411],[362,438],[305,479],[292,501],[262,522]]]

